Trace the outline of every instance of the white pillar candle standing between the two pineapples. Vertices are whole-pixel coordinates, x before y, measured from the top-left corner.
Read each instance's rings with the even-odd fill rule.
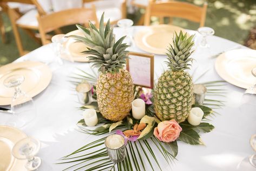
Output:
[[[137,98],[132,102],[132,113],[136,120],[145,116],[145,102],[141,98]]]

